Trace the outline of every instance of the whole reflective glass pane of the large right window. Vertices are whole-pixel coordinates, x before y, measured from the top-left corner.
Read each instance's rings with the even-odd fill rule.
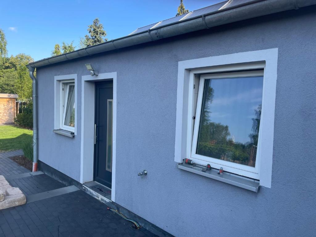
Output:
[[[255,167],[263,77],[206,79],[197,154]]]

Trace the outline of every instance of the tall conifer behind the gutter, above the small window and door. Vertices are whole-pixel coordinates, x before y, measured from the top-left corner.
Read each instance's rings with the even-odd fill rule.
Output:
[[[81,48],[97,45],[106,42],[106,32],[103,29],[103,25],[100,23],[99,18],[95,18],[92,25],[88,26],[89,35],[85,35],[80,39],[79,46]]]

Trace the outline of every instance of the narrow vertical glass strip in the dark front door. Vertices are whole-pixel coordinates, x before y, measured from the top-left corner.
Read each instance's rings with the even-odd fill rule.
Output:
[[[113,100],[107,100],[106,170],[112,172]]]

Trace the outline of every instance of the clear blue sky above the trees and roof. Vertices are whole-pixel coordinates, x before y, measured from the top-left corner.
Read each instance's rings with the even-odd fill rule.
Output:
[[[222,0],[184,0],[196,10]],[[87,26],[99,17],[109,40],[125,36],[138,27],[175,16],[180,0],[135,1],[3,1],[0,28],[8,41],[8,55],[26,53],[34,60],[50,57],[55,44],[79,44]]]

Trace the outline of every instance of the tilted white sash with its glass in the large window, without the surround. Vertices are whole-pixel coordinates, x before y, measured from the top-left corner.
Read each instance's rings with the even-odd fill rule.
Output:
[[[190,159],[259,179],[263,74],[251,70],[202,74],[196,79]]]

